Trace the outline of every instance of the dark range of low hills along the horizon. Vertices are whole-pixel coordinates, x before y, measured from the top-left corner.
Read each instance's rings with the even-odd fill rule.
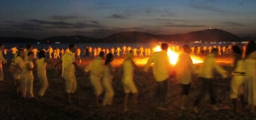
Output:
[[[0,37],[2,43],[211,43],[211,42],[241,42],[255,40],[254,37],[237,37],[228,31],[207,29],[192,31],[185,34],[154,35],[147,32],[125,31],[108,37],[94,38],[84,36],[47,37],[43,40],[22,37]]]

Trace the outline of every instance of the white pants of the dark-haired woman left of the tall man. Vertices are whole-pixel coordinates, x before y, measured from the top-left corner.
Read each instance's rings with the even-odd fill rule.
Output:
[[[46,89],[48,89],[48,87],[49,87],[48,78],[45,73],[38,73],[38,79],[41,84],[41,88],[38,92],[38,95],[43,96]]]

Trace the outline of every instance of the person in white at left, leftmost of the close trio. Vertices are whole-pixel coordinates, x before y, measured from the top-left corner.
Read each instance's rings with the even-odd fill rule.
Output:
[[[20,79],[21,74],[25,66],[25,54],[24,49],[20,49],[18,51],[17,56],[15,57],[15,60],[12,62],[11,66],[15,66],[14,78],[15,78],[15,92],[17,95],[20,95]]]

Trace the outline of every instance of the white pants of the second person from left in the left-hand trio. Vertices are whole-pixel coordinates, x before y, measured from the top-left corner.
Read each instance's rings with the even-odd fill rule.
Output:
[[[34,81],[34,77],[32,73],[22,73],[21,81],[20,81],[21,82],[20,91],[21,91],[22,97],[26,97],[26,93],[29,98],[34,97],[33,81]]]

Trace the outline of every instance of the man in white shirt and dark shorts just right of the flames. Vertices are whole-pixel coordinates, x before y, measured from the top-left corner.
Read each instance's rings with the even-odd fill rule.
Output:
[[[177,63],[175,69],[177,71],[177,81],[183,87],[183,96],[181,99],[181,105],[179,109],[186,109],[185,101],[189,95],[189,89],[191,86],[191,75],[195,73],[195,66],[191,57],[189,56],[189,45],[183,45],[183,53],[177,57]]]

